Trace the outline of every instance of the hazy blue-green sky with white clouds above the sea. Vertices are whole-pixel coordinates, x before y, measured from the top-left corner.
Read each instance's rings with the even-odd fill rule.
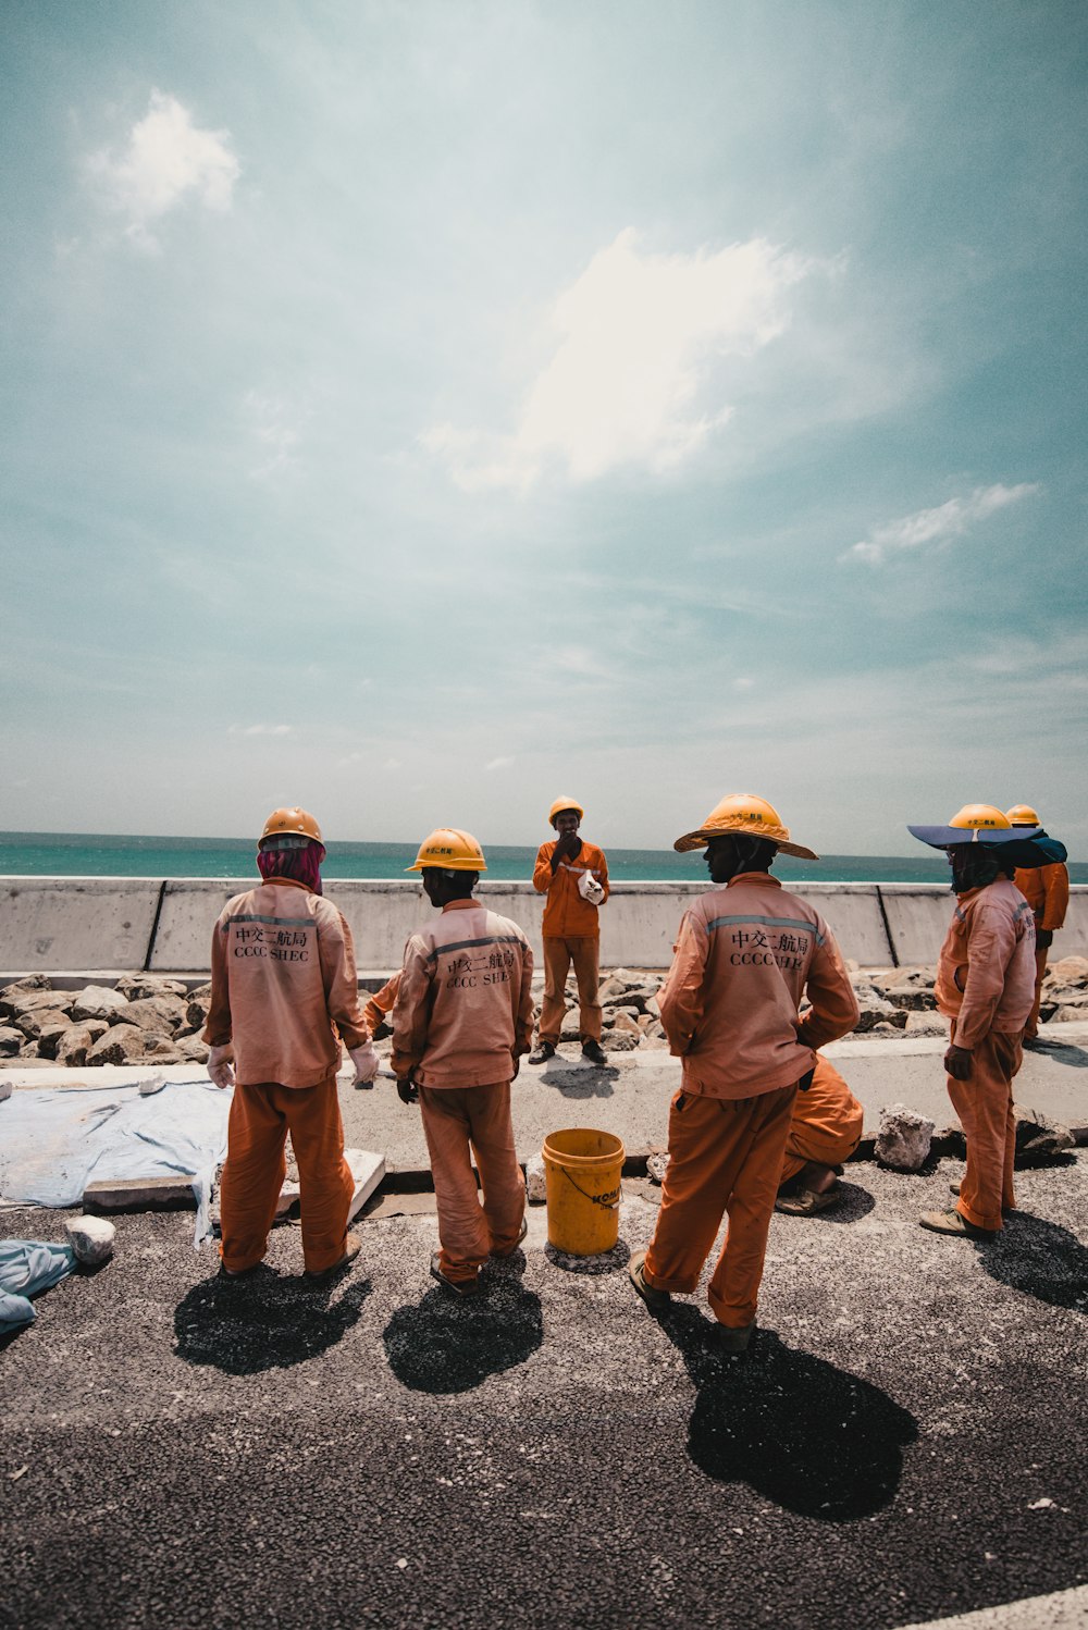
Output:
[[[1083,854],[1078,0],[0,31],[0,826]]]

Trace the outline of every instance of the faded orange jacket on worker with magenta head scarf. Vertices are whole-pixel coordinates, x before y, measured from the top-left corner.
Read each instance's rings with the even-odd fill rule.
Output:
[[[358,999],[352,931],[293,877],[235,895],[212,934],[210,1046],[235,1048],[241,1086],[316,1087],[340,1068],[340,1042],[370,1030]]]

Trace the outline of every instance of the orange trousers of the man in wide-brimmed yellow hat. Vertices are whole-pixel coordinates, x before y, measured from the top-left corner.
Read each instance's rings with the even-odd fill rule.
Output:
[[[754,1099],[709,1099],[682,1087],[673,1099],[669,1164],[645,1280],[655,1291],[691,1294],[726,1213],[709,1297],[718,1324],[735,1330],[756,1317],[795,1097],[796,1082]]]

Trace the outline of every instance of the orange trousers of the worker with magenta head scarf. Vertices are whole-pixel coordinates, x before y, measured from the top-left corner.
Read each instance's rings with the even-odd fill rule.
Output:
[[[303,1262],[324,1273],[344,1255],[355,1178],[344,1159],[344,1123],[336,1076],[316,1087],[236,1086],[226,1123],[220,1185],[223,1263],[241,1273],[262,1260],[275,1218],[292,1134],[298,1164]]]

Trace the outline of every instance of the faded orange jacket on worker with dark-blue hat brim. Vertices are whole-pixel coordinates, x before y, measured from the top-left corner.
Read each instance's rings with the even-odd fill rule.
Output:
[[[1000,1030],[1018,1035],[1036,999],[1036,926],[1007,877],[959,895],[933,985],[937,1006],[956,1020],[956,1046]]]

